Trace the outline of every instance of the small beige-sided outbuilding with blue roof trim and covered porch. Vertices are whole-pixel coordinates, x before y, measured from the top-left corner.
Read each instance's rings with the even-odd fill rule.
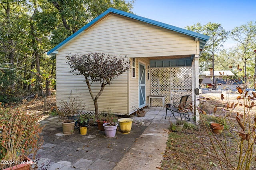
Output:
[[[106,86],[98,99],[99,110],[111,108],[129,115],[133,106],[149,105],[148,96],[162,95],[165,103],[179,102],[199,88],[198,59],[209,37],[186,29],[109,8],[48,52],[56,56],[56,104],[79,96],[88,111],[94,103],[83,76],[75,76],[66,63],[67,55],[107,53],[127,56],[130,72]],[[93,84],[97,94],[100,85]],[[162,100],[152,99],[162,107]]]

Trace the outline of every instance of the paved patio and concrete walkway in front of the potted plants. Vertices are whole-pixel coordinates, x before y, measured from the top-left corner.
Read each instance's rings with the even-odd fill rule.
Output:
[[[168,140],[170,113],[165,118],[162,107],[146,109],[144,117],[133,116],[132,130],[107,138],[98,127],[89,126],[86,135],[75,129],[72,135],[62,133],[58,117],[45,117],[40,123],[44,144],[38,150],[38,166],[50,162],[50,170],[140,170],[160,167]],[[170,119],[169,119],[170,118]]]

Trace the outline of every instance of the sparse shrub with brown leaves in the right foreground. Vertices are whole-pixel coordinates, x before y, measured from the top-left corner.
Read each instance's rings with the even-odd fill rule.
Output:
[[[256,106],[254,104],[256,93],[252,92],[252,96],[248,95],[245,86],[237,86],[236,89],[238,94],[237,103],[229,103],[228,99],[227,102],[224,102],[224,95],[221,94],[220,96],[223,101],[223,108],[221,109],[222,115],[224,115],[223,118],[214,116],[217,113],[217,108],[214,109],[213,115],[206,115],[205,111],[199,109],[201,125],[205,128],[211,142],[211,149],[209,149],[204,147],[207,144],[202,141],[202,154],[212,156],[212,158],[218,160],[221,169],[249,170],[256,166],[256,117],[253,113],[255,111],[252,111],[252,108]],[[236,106],[242,106],[243,109],[234,112]],[[214,135],[210,130],[209,121],[224,125],[226,132],[222,135]],[[235,161],[234,157],[230,157],[234,148],[237,152],[235,155],[237,160]]]

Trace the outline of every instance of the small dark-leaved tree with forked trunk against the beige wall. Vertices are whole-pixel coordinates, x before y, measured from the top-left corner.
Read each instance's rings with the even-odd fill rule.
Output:
[[[125,57],[111,56],[105,53],[88,53],[84,55],[66,56],[68,64],[72,69],[69,72],[75,72],[73,75],[83,75],[88,90],[94,102],[95,117],[98,119],[98,98],[102,94],[106,85],[110,85],[112,80],[117,78],[123,72],[130,70],[130,61]],[[99,82],[100,92],[94,96],[91,90],[93,82]]]

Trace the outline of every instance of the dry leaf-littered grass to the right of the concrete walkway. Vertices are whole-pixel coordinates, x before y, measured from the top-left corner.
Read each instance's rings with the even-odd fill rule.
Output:
[[[211,100],[205,102],[202,107],[208,114],[212,114],[216,107],[216,114],[219,114],[220,117],[228,116],[230,118],[230,122],[227,122],[228,129],[224,129],[222,134],[214,135],[211,133],[210,128],[208,128],[207,132],[206,129],[208,125],[206,123],[200,124],[200,126],[197,127],[190,125],[189,128],[185,127],[181,132],[170,131],[162,166],[158,167],[158,169],[232,169],[223,165],[225,163],[236,167],[239,156],[238,143],[240,142],[240,137],[238,136],[238,132],[233,131],[233,129],[240,128],[235,117],[237,112],[240,113],[244,111],[244,106],[238,105],[232,112],[223,113],[225,104],[237,103],[238,100],[236,98],[239,95],[226,95],[223,100],[221,100],[220,95],[221,94],[202,94],[202,97],[211,98]],[[228,113],[230,113],[230,115],[228,115]],[[255,107],[250,110],[250,113],[255,115]],[[212,145],[212,143],[216,145]],[[222,148],[220,148],[220,146]],[[255,149],[254,152],[256,152]],[[226,156],[226,158],[223,158],[224,156]],[[250,169],[256,169],[256,161],[251,162]]]

